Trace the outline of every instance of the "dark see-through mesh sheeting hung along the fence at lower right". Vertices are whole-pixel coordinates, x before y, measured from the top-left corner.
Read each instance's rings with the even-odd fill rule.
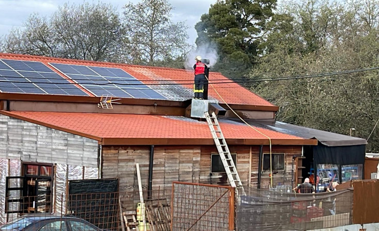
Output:
[[[350,225],[351,190],[293,194],[246,189],[237,205],[238,231],[295,231]]]

